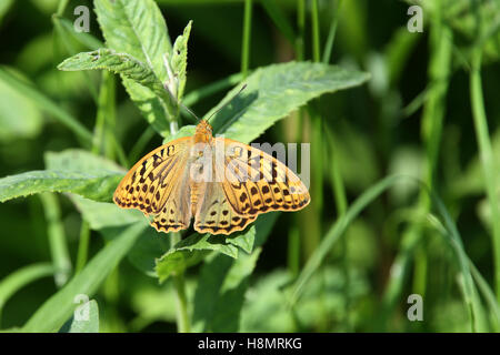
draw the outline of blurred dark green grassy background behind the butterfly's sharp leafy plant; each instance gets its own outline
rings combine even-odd
[[[241,70],[244,1],[157,2],[172,39],[193,20],[187,93]],[[423,8],[421,33],[407,29],[412,1],[252,1],[250,69],[322,60],[331,44],[329,63],[369,72],[371,80],[322,95],[258,139],[294,142],[301,136],[302,142],[311,142],[313,203],[300,213],[278,216],[249,280],[239,331],[498,331],[500,3],[417,2]],[[62,60],[88,49],[58,32],[54,23],[59,18],[71,23],[72,10],[79,4],[93,6],[69,1],[57,18],[59,4],[58,0],[0,1],[0,64],[92,130],[101,75],[57,70]],[[93,12],[90,30],[102,40]],[[314,43],[319,44],[316,49]],[[192,109],[204,114],[227,89],[203,98]],[[144,140],[146,121],[118,79],[116,90],[114,133],[133,162],[162,139],[151,133],[139,151],[134,149],[141,136]],[[321,120],[320,130],[314,128],[314,115]],[[79,140],[51,110],[0,78],[0,176],[42,170],[44,152],[78,146]],[[446,205],[462,251],[474,265],[482,312],[476,314],[481,320],[478,326],[471,326],[463,295],[467,275],[460,254],[442,232],[447,221],[438,216],[427,190],[410,179],[391,184],[349,221],[346,235],[324,251],[321,267],[314,268],[294,308],[279,306],[282,290],[323,247],[321,241],[339,216],[391,174],[419,179]],[[57,209],[50,211],[56,215],[47,213],[47,204],[53,203]],[[2,203],[0,225],[0,280],[26,265],[51,262],[50,229],[63,233],[70,258],[77,257],[81,216],[62,194]],[[99,233],[91,232],[89,257],[103,245]],[[198,266],[187,272],[188,293],[196,287],[199,273]],[[43,277],[6,304],[0,302],[0,328],[21,326],[56,291],[53,277]],[[423,297],[422,322],[407,317],[407,298],[413,293]],[[127,261],[96,300],[101,331],[177,329],[171,282],[160,286],[157,278]]]

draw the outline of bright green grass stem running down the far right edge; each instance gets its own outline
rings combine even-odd
[[[497,194],[497,169],[488,132],[488,122],[484,112],[484,102],[481,83],[481,50],[474,51],[472,57],[472,71],[470,73],[470,100],[476,135],[479,143],[482,172],[484,176],[486,192],[491,209],[493,263],[494,263],[494,290],[497,301],[500,302],[500,220]]]

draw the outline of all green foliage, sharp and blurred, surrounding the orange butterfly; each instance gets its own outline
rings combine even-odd
[[[494,0],[0,1],[0,329],[499,331],[499,24]],[[112,204],[193,132],[166,83],[200,116],[246,83],[214,131],[310,142],[311,204],[229,237]]]

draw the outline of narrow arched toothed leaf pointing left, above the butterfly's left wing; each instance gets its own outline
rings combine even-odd
[[[150,67],[130,54],[117,53],[111,49],[101,48],[91,52],[78,53],[66,59],[58,65],[58,69],[64,71],[109,70],[150,89],[159,98],[163,99],[164,102],[171,100],[168,92],[164,90],[163,84],[156,77]]]

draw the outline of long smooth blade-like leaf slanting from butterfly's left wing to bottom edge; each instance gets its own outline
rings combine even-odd
[[[146,225],[133,224],[117,240],[108,243],[63,288],[37,310],[23,326],[23,332],[57,332],[71,316],[74,297],[91,297],[109,273],[127,255]]]

